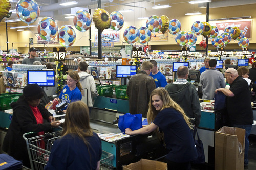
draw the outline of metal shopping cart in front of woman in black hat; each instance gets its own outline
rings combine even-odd
[[[29,160],[32,170],[43,170],[49,160],[51,148],[55,140],[60,137],[60,131],[46,133],[36,136],[37,132],[29,132],[23,135],[26,140],[29,153]],[[42,142],[45,143],[45,149],[42,149]],[[100,170],[115,169],[113,167],[114,155],[102,150],[100,159]]]

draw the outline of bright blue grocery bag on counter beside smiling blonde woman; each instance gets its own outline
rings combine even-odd
[[[142,128],[142,114],[126,113],[123,116],[119,116],[118,127],[121,132],[125,132],[126,128],[130,128],[132,130]]]

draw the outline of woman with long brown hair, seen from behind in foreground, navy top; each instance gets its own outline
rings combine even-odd
[[[89,110],[82,101],[68,106],[61,138],[51,150],[47,169],[99,169],[101,141],[90,127]]]

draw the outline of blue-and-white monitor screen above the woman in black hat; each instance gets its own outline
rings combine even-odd
[[[40,70],[28,71],[28,84],[38,84],[39,86],[55,86],[55,71]]]

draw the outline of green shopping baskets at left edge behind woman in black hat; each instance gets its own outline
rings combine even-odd
[[[0,94],[0,110],[4,111],[7,109],[11,109],[10,104],[12,102],[16,102],[21,96],[22,93],[6,93]]]

